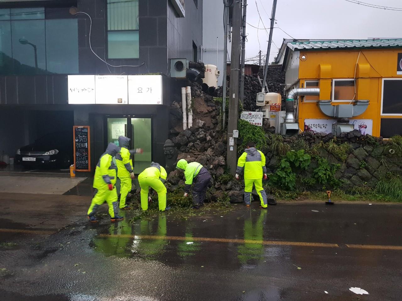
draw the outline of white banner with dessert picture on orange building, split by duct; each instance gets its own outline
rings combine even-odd
[[[314,133],[332,133],[332,125],[336,119],[305,119],[304,130]],[[362,135],[373,134],[372,119],[350,119],[349,124],[353,124],[355,130],[359,130]]]

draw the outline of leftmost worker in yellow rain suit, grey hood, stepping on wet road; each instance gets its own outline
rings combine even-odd
[[[96,210],[103,203],[109,206],[109,215],[112,222],[123,220],[119,216],[119,203],[117,201],[116,180],[117,172],[116,165],[113,163],[113,157],[120,152],[120,148],[116,144],[109,143],[105,153],[100,156],[99,162],[96,165],[93,187],[96,189],[91,205],[88,209],[88,219],[91,222],[98,222],[95,217]]]

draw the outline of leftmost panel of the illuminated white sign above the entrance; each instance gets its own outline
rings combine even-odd
[[[68,103],[95,104],[94,75],[68,75]]]

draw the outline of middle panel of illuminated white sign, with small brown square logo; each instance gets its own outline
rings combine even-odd
[[[128,104],[127,75],[95,75],[96,104]]]

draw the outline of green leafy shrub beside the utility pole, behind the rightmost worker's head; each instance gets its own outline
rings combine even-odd
[[[242,144],[238,146],[238,153],[242,153],[246,144],[252,141],[256,144],[256,148],[259,150],[265,150],[267,148],[267,140],[265,138],[265,132],[261,126],[255,126],[250,124],[246,120],[240,119],[238,121],[239,137],[242,138]]]

